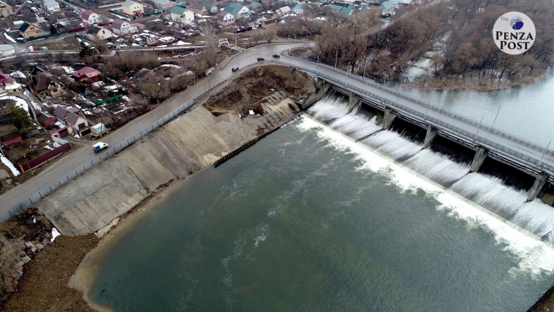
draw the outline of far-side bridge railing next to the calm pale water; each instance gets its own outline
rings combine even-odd
[[[303,47],[297,47],[295,49],[303,49]],[[292,50],[294,50],[294,49],[292,49]],[[289,51],[289,50],[287,50],[287,51]],[[283,53],[285,53],[285,51],[283,51]],[[316,60],[312,60],[310,58],[305,58],[305,57],[298,56],[298,55],[292,55],[290,53],[289,53],[289,57],[296,58],[296,59],[299,59],[299,60],[307,60],[309,62],[314,62],[314,63],[318,64],[318,62]],[[461,121],[464,121],[466,123],[476,125],[479,128],[488,129],[488,130],[496,133],[497,135],[507,137],[508,139],[511,139],[512,141],[516,141],[520,144],[525,144],[526,146],[530,146],[535,150],[539,150],[540,152],[545,152],[545,153],[549,153],[549,154],[554,155],[554,148],[550,149],[550,148],[548,148],[548,146],[545,146],[543,144],[539,144],[537,142],[532,142],[529,139],[524,139],[524,138],[519,137],[518,135],[515,135],[513,133],[510,133],[510,132],[507,132],[507,131],[504,131],[504,130],[500,130],[499,128],[494,128],[494,127],[492,127],[490,125],[487,125],[487,124],[483,124],[483,123],[481,123],[481,121],[477,121],[476,119],[474,119],[470,116],[465,116],[464,114],[461,114],[459,112],[454,112],[452,110],[446,110],[444,107],[442,107],[442,106],[440,106],[436,103],[433,103],[430,100],[425,100],[425,99],[422,99],[422,98],[418,98],[418,96],[414,96],[413,94],[398,91],[397,89],[393,89],[391,87],[387,87],[386,85],[376,83],[375,81],[370,80],[369,78],[364,78],[364,77],[361,77],[359,75],[355,75],[353,73],[348,73],[348,71],[346,71],[344,69],[333,67],[330,64],[325,64],[325,63],[319,62],[318,66],[325,67],[327,69],[331,69],[333,71],[340,72],[343,75],[346,75],[350,78],[353,78],[355,80],[359,80],[363,83],[366,83],[367,85],[372,85],[373,87],[376,87],[377,89],[382,89],[383,91],[386,91],[390,94],[394,94],[395,96],[400,96],[401,98],[406,98],[406,100],[413,101],[413,102],[418,103],[420,105],[423,105],[423,106],[425,106],[425,107],[427,107],[431,110],[436,110],[437,112],[442,112],[443,114],[447,114],[449,116],[452,116],[452,117],[454,117],[456,119],[459,119]],[[319,75],[321,76],[321,74],[319,74]],[[343,84],[343,83],[340,82],[339,84]]]

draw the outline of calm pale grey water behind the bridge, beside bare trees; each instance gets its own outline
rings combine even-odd
[[[542,146],[554,137],[553,71],[530,85],[497,91],[402,89]]]

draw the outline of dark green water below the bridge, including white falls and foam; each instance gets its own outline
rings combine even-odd
[[[554,208],[347,103],[328,96],[315,119],[179,182],[90,297],[116,311],[524,311],[554,283],[537,237]]]

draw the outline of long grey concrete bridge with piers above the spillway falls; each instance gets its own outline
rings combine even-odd
[[[426,129],[422,148],[427,148],[434,137],[440,135],[475,150],[471,172],[478,171],[486,157],[492,157],[535,176],[535,183],[528,193],[529,201],[537,197],[548,180],[554,183],[554,150],[549,149],[550,144],[535,144],[528,139],[483,125],[470,117],[445,110],[430,101],[385,87],[328,64],[318,64],[294,55],[283,55],[276,62],[301,69],[320,81],[318,94],[309,100],[312,103],[321,99],[326,90],[332,87],[349,96],[349,112],[358,103],[384,112],[384,130],[396,118]]]

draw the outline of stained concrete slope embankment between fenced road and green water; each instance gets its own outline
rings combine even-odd
[[[262,103],[263,116],[213,116],[199,106],[36,203],[65,235],[96,232],[150,193],[272,130],[296,112],[289,99]]]

